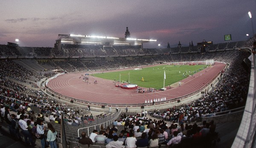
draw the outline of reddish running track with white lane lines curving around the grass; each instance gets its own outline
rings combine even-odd
[[[102,78],[89,76],[89,83],[79,78],[82,73],[68,73],[60,75],[52,79],[48,83],[48,87],[63,96],[69,96],[89,102],[99,102],[108,104],[141,104],[146,100],[154,98],[166,97],[166,100],[187,96],[206,87],[207,84],[216,78],[223,70],[225,64],[215,63],[215,65],[207,67],[199,73],[194,74],[195,77],[183,79],[180,87],[169,89],[166,91],[137,93],[136,90],[126,90],[117,88],[114,82]],[[111,72],[111,71],[109,71]],[[202,73],[202,75],[201,75]],[[84,73],[83,73],[84,74]],[[98,84],[94,84],[97,80]],[[147,88],[145,88],[146,90]]]

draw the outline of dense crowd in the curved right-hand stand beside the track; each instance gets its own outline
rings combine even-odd
[[[250,75],[241,63],[249,54],[240,53],[236,53],[234,61],[222,74],[222,78],[211,93],[205,90],[201,99],[168,110],[154,110],[150,114],[156,118],[175,122],[178,122],[182,115],[185,121],[190,122],[200,117],[215,116],[215,113],[244,106]]]

